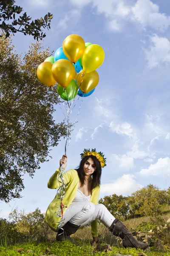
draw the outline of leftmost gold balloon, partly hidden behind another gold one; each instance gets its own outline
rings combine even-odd
[[[42,82],[49,87],[54,86],[56,80],[52,75],[52,68],[53,64],[51,62],[45,61],[42,62],[37,68],[37,77]]]

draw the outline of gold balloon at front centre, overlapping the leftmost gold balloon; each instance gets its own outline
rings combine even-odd
[[[62,87],[67,87],[74,78],[75,68],[70,61],[60,59],[54,62],[52,66],[52,74],[58,84],[60,84]]]

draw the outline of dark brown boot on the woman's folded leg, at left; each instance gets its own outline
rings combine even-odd
[[[73,244],[79,244],[71,239],[71,235],[76,233],[79,229],[80,225],[74,225],[70,221],[68,221],[62,228],[59,229],[56,240],[57,241],[71,241]]]

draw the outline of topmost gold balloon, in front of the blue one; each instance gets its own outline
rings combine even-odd
[[[83,55],[85,41],[79,35],[68,35],[62,43],[62,49],[65,56],[75,63]]]

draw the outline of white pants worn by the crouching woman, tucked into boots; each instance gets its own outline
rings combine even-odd
[[[103,204],[80,201],[72,203],[65,210],[62,219],[63,223],[59,225],[59,228],[63,227],[68,221],[72,224],[84,227],[96,219],[99,219],[106,227],[111,227],[115,218]],[[56,231],[58,231],[59,228],[57,228]]]

